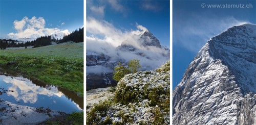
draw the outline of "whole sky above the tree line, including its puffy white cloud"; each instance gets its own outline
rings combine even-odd
[[[16,27],[14,26],[15,20]],[[82,0],[0,0],[0,38],[9,38],[10,33],[13,33],[12,37],[16,38],[41,34],[51,35],[51,33],[62,30],[72,32],[82,26]],[[33,28],[36,31],[35,34],[29,32]]]

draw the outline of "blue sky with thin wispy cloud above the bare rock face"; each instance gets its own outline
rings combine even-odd
[[[211,4],[252,8],[208,8]],[[246,22],[256,24],[256,1],[173,1],[173,89],[208,39]]]

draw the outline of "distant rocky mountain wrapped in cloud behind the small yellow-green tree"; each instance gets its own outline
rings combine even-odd
[[[112,79],[113,69],[118,62],[128,62],[126,57],[158,61],[158,58],[152,57],[151,53],[153,52],[148,53],[152,48],[158,49],[160,55],[158,58],[166,58],[164,62],[169,60],[169,49],[162,47],[159,40],[149,31],[140,35],[136,45],[129,40],[123,41],[120,46],[115,48],[114,53],[116,55],[109,55],[109,52],[113,50],[104,47],[102,47],[102,53],[87,50],[87,90],[116,86],[117,82]],[[93,72],[89,70],[93,70]],[[151,70],[151,67],[150,65],[142,65],[142,70]]]

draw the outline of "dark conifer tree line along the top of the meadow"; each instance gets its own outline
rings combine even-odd
[[[0,39],[0,49],[6,49],[7,47],[25,47],[27,46],[33,46],[35,47],[41,47],[46,45],[51,45],[52,42],[56,43],[62,43],[62,42],[68,42],[68,41],[74,41],[74,42],[83,42],[83,28],[79,30],[75,30],[71,34],[64,36],[62,39],[56,39],[52,38],[51,36],[42,36],[39,37],[33,41],[27,41],[27,42],[18,42],[17,40],[11,40],[11,39]]]

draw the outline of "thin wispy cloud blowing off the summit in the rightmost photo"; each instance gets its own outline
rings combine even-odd
[[[181,45],[193,53],[197,53],[207,40],[228,28],[248,23],[243,20],[237,20],[234,17],[205,18],[201,15],[193,15],[193,18],[191,17],[189,21],[186,20],[179,19],[179,22],[174,21],[173,43]]]

